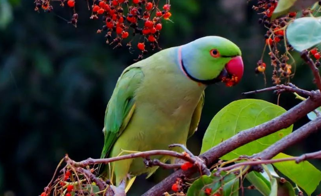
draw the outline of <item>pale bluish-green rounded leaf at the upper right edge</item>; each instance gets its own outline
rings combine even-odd
[[[291,22],[286,30],[289,43],[303,51],[321,42],[321,17],[303,17]]]

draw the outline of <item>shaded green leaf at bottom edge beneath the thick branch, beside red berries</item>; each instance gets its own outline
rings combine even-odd
[[[213,171],[215,173],[216,171]],[[239,188],[239,180],[234,174],[228,174],[221,172],[220,176],[201,176],[195,180],[189,188],[186,196],[206,196],[205,189],[210,188],[211,194],[219,191],[219,188],[223,186],[223,195],[226,196],[237,196]],[[222,180],[223,178],[223,180]]]

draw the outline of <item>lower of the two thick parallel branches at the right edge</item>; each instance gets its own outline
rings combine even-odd
[[[255,155],[255,157],[259,157],[261,159],[271,159],[279,152],[284,151],[286,148],[300,142],[302,139],[309,136],[311,133],[314,133],[318,129],[321,129],[321,118],[317,118],[304,126],[300,127],[296,131],[292,132],[289,135],[286,135],[282,139],[280,139],[275,144],[271,145],[269,148],[266,148],[261,153]]]

